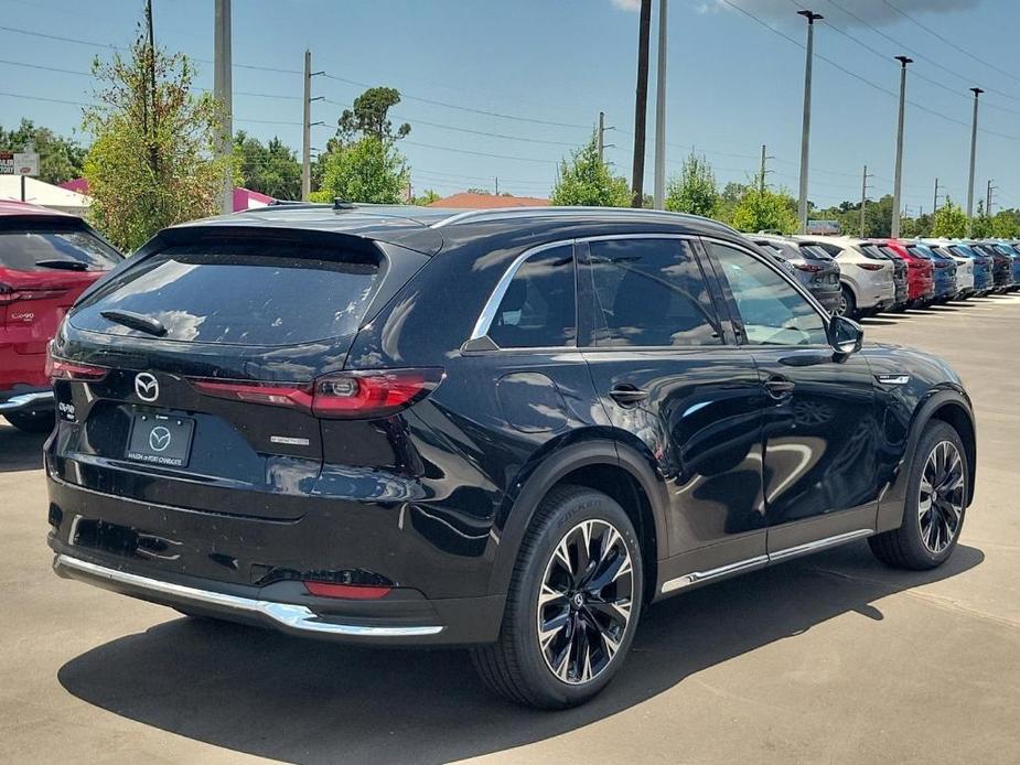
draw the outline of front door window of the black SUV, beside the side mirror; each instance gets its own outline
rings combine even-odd
[[[825,322],[809,302],[763,262],[734,247],[709,243],[751,345],[825,345]]]

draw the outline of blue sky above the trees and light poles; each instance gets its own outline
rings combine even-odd
[[[365,86],[396,87],[395,122],[415,193],[466,187],[547,196],[559,160],[605,112],[606,159],[630,177],[638,0],[234,0],[235,129],[300,150],[304,50],[312,146]],[[973,96],[981,96],[976,197],[1020,207],[1016,0],[809,0],[815,28],[809,198],[827,206],[891,193],[899,63],[908,72],[903,205],[931,212],[934,182],[965,203]],[[196,60],[212,87],[213,0],[153,0],[157,44]],[[654,7],[657,9],[658,0]],[[794,193],[806,24],[799,0],[669,0],[666,169],[694,148],[720,183],[747,181],[767,147],[769,182]],[[0,0],[0,125],[21,117],[80,133],[95,56],[137,33],[143,0]],[[20,31],[14,31],[20,30]],[[24,34],[32,32],[34,34]],[[50,36],[39,36],[50,35]],[[53,39],[63,37],[64,40]],[[657,11],[648,153],[652,190]],[[73,42],[78,41],[78,42]],[[40,68],[43,67],[43,68]],[[262,67],[262,68],[250,68]],[[25,98],[30,96],[31,98]],[[3,149],[3,147],[0,147]],[[942,202],[942,198],[940,198]]]

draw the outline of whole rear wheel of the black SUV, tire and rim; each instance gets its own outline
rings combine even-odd
[[[588,572],[601,570],[605,581],[615,570],[601,589],[589,584],[587,592],[583,577],[570,575],[572,569],[580,573],[584,568],[579,565],[579,554],[586,528],[588,549],[595,551],[591,558],[609,542],[603,553],[608,565],[595,560]],[[605,688],[626,658],[643,586],[641,547],[623,508],[601,492],[557,487],[543,499],[522,542],[500,637],[493,645],[473,649],[472,662],[484,683],[511,701],[540,709],[581,704]],[[539,606],[539,596],[554,592],[562,594]],[[546,633],[546,643],[539,617],[562,625]],[[597,629],[599,625],[604,627]]]

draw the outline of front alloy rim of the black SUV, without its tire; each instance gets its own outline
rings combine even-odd
[[[965,488],[959,451],[952,441],[940,441],[924,463],[917,497],[921,540],[930,552],[942,552],[956,537]]]

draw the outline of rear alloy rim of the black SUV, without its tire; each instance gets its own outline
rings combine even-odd
[[[552,552],[538,593],[538,644],[549,670],[581,685],[613,660],[634,603],[634,570],[620,531],[604,520],[570,529]]]

